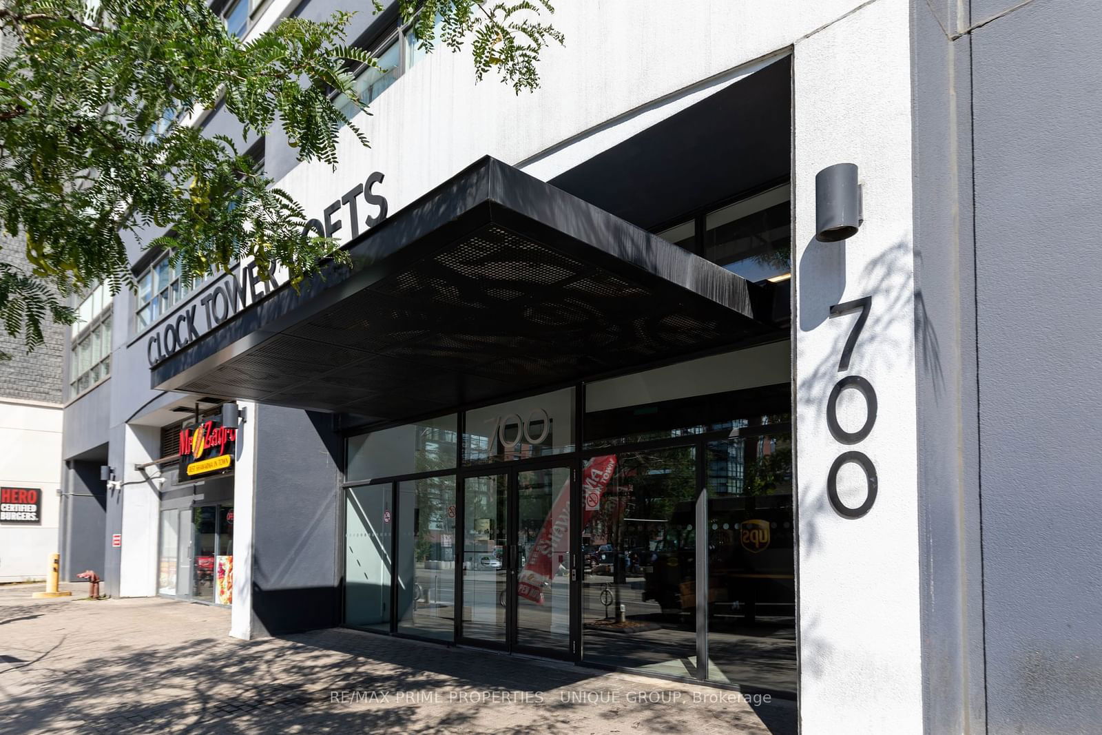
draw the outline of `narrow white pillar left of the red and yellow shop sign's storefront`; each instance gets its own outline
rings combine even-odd
[[[156,426],[126,425],[126,465],[116,467],[122,480],[122,548],[119,595],[152,597],[156,594],[158,537],[160,529],[160,469],[144,472],[134,465],[158,458],[161,430]],[[121,472],[120,472],[121,469]]]

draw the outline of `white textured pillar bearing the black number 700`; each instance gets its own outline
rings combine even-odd
[[[922,729],[908,24],[906,0],[878,0],[793,55],[800,710],[804,732],[817,734]],[[865,223],[850,240],[823,244],[815,173],[841,162],[860,167]],[[840,371],[857,315],[831,318],[830,306],[868,295],[868,322]],[[827,426],[843,376],[866,378],[879,404],[855,444]],[[852,432],[865,403],[853,390],[842,396],[839,422]],[[879,479],[856,519],[827,496],[846,451],[866,454]],[[838,485],[845,505],[865,499],[856,465],[843,465]]]

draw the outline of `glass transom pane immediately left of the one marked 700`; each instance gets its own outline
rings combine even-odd
[[[454,469],[455,422],[450,413],[349,437],[348,480]]]

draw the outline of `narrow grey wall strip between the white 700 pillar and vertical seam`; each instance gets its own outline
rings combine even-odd
[[[923,716],[984,727],[983,597],[971,224],[971,36],[954,8],[911,3],[915,344]]]

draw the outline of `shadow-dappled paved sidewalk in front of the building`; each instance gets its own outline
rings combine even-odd
[[[0,595],[0,732],[795,733],[790,702],[229,610]],[[79,593],[77,593],[79,594]]]

